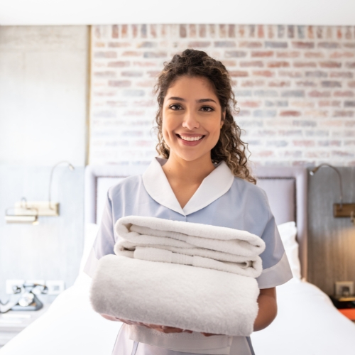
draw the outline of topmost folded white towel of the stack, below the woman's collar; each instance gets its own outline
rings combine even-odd
[[[116,222],[115,230],[122,239],[146,246],[197,247],[251,257],[265,249],[264,241],[249,231],[155,217],[126,216]]]

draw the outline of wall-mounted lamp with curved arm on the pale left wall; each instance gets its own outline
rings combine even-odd
[[[68,161],[63,160],[55,164],[50,170],[48,201],[32,201],[27,202],[25,198],[21,202],[16,202],[15,207],[10,207],[5,211],[6,223],[32,223],[38,224],[38,216],[59,216],[59,203],[51,202],[50,195],[52,190],[53,172],[58,165],[66,163],[70,170],[74,170],[74,166]],[[14,209],[14,214],[8,214],[9,209]]]

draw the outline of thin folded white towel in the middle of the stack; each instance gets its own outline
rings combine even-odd
[[[222,252],[214,252],[207,249],[182,249],[174,248],[174,251],[166,250],[165,246],[134,246],[127,241],[118,242],[115,246],[116,255],[137,258],[146,261],[160,261],[163,263],[179,263],[184,265],[197,266],[200,268],[212,268],[214,270],[237,273],[243,276],[257,278],[262,272],[260,256],[246,257],[229,254],[233,261],[224,261]],[[197,251],[197,253],[194,253]],[[207,253],[204,253],[207,251]],[[222,261],[216,257],[207,257],[208,253],[222,254]],[[204,256],[199,256],[202,254]]]

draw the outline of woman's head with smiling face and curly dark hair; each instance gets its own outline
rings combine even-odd
[[[238,109],[229,72],[222,62],[201,50],[187,49],[165,64],[155,92],[159,105],[155,116],[159,140],[156,148],[163,158],[175,152],[173,145],[179,140],[183,143],[182,134],[187,138],[185,142],[197,137],[204,144],[196,144],[200,146],[198,151],[189,151],[193,159],[202,151],[208,152],[212,163],[224,160],[235,176],[255,183],[247,167],[247,144],[241,141],[241,129],[232,116]],[[178,151],[182,153],[182,149]]]

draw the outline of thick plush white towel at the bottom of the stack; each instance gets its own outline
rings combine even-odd
[[[258,312],[254,278],[208,268],[107,255],[99,260],[91,301],[127,320],[248,336]]]

